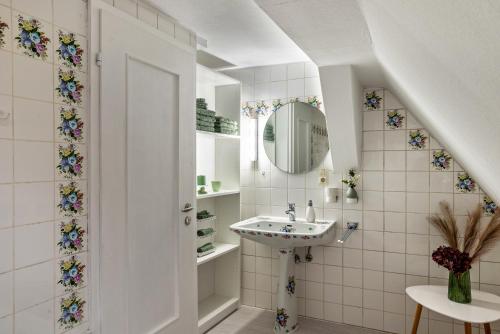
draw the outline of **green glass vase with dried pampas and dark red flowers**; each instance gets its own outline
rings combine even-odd
[[[459,233],[455,217],[446,202],[439,203],[441,215],[433,215],[429,222],[441,233],[447,246],[440,246],[432,253],[432,260],[449,270],[448,299],[462,304],[471,302],[470,269],[500,240],[500,210],[491,217],[481,230],[481,206],[469,212],[463,243],[459,244]]]

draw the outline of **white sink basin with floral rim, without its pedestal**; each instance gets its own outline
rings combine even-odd
[[[291,222],[280,217],[254,217],[230,226],[242,238],[255,240],[275,248],[295,248],[330,243],[335,238],[335,221],[303,219]]]

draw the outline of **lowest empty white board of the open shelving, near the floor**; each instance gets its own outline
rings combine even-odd
[[[239,299],[212,295],[198,303],[198,332],[205,333],[238,308]]]

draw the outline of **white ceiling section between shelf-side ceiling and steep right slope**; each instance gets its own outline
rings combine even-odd
[[[384,86],[355,0],[255,0],[318,66],[353,65],[364,86]]]

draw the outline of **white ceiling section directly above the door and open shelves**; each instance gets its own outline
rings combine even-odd
[[[238,67],[309,61],[251,0],[149,0],[208,41],[205,50]]]

